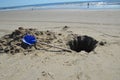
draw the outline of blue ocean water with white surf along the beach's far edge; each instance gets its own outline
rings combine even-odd
[[[1,7],[0,10],[19,9],[120,9],[120,0],[84,0],[75,2],[57,2],[22,6]]]

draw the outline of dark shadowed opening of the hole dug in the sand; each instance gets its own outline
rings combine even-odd
[[[76,52],[86,51],[91,52],[96,48],[96,44],[98,43],[97,40],[93,39],[89,36],[77,36],[73,40],[69,41],[68,44],[71,50]]]

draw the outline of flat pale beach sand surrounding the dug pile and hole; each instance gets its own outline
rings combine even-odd
[[[68,26],[68,29],[64,29]],[[120,10],[0,12],[0,36],[18,27],[88,35],[106,41],[95,52],[37,50],[0,54],[0,80],[120,80]]]

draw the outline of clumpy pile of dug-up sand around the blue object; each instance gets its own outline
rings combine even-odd
[[[36,46],[25,46],[22,42],[22,38],[26,35],[34,35],[37,39]],[[45,42],[52,44],[53,42],[62,43],[61,39],[58,39],[62,34],[56,34],[50,31],[38,31],[36,29],[24,29],[19,27],[17,30],[13,31],[11,34],[4,35],[0,38],[0,52],[3,53],[20,53],[24,51],[33,51],[36,48],[45,48],[47,46],[39,44],[39,42]]]

